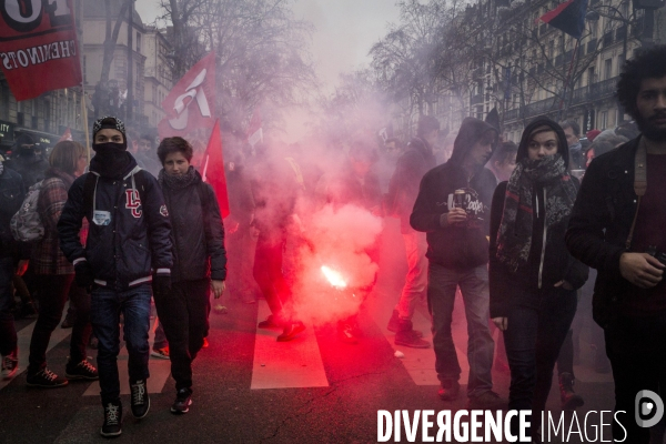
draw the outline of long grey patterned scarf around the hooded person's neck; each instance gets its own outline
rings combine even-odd
[[[538,160],[524,158],[518,162],[506,185],[504,211],[497,231],[497,259],[513,272],[529,259],[535,184],[546,190],[546,230],[567,218],[576,200],[576,185],[559,153]]]

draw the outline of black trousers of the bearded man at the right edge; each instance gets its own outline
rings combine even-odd
[[[615,411],[626,428],[625,443],[648,443],[649,428],[635,421],[638,392],[649,390],[666,400],[666,313],[649,317],[619,317],[605,331],[606,353],[615,380]],[[623,440],[625,432],[613,422],[613,437]]]

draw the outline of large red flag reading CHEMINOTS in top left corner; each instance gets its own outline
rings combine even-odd
[[[0,1],[0,64],[17,100],[81,83],[72,3]]]

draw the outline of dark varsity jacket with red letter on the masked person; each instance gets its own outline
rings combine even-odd
[[[67,259],[74,265],[88,261],[95,283],[117,290],[150,282],[152,273],[170,274],[172,266],[171,223],[160,184],[128,157],[128,165],[114,178],[100,175],[91,162],[91,172],[69,189],[58,221]],[[95,181],[88,209],[84,185],[90,174]],[[83,218],[90,223],[85,246],[79,240]]]

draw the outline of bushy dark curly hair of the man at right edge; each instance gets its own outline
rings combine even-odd
[[[625,62],[617,82],[617,100],[627,114],[638,120],[636,98],[645,79],[666,77],[666,46],[659,44],[647,50],[636,51],[636,56]]]

